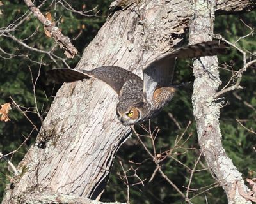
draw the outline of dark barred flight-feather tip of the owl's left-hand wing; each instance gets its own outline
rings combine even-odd
[[[74,69],[51,69],[47,71],[47,77],[47,79],[55,82],[56,84],[91,78],[89,75]]]

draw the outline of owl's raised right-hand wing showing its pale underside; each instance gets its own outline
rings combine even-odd
[[[157,87],[170,86],[172,84],[176,57],[204,57],[225,52],[225,45],[220,44],[218,41],[205,41],[195,45],[187,45],[156,57],[143,68],[143,92],[147,95],[148,101],[152,100]]]

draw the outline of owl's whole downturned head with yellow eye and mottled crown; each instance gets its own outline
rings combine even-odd
[[[126,101],[128,102],[128,101]],[[145,103],[118,103],[116,106],[116,115],[124,126],[131,126],[138,122],[141,122],[143,118],[143,109]]]

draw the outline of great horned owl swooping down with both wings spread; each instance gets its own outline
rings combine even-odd
[[[100,66],[93,70],[52,69],[49,74],[56,83],[96,78],[118,94],[116,115],[124,126],[140,124],[154,117],[172,98],[177,87],[172,85],[176,58],[211,56],[225,52],[218,41],[205,41],[159,55],[142,71],[143,79],[118,66]]]

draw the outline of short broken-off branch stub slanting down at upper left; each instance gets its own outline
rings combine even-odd
[[[60,48],[65,49],[65,55],[68,58],[73,58],[78,54],[77,49],[72,45],[70,39],[64,36],[60,29],[56,27],[51,20],[47,20],[44,15],[40,12],[40,10],[32,3],[30,0],[24,0],[24,3],[28,6],[29,10],[33,12],[36,18],[42,22],[45,29],[51,34],[52,38],[60,45]]]

